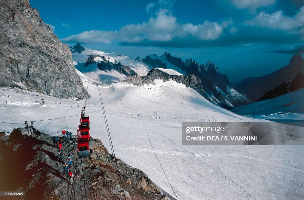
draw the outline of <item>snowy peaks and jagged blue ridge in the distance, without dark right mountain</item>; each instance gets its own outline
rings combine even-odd
[[[171,79],[191,87],[210,102],[223,108],[231,109],[250,103],[246,96],[232,88],[227,76],[219,73],[218,68],[211,61],[206,65],[200,65],[192,59],[186,59],[183,62],[181,58],[171,56],[167,52],[162,56],[152,54],[144,59],[137,57],[133,60],[120,53],[104,53],[91,49],[82,51],[85,48],[79,44],[70,48],[74,52],[73,59],[78,65],[80,63],[85,63],[84,66],[96,64],[105,72],[116,70],[128,76],[127,82],[135,85],[154,84],[155,79],[163,81]],[[154,68],[171,71],[154,70]],[[177,73],[181,76],[174,76]]]

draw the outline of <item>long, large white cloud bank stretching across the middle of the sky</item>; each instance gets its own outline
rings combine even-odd
[[[169,42],[173,39],[196,37],[198,40],[216,40],[223,33],[223,29],[232,24],[232,20],[222,23],[205,21],[202,24],[179,24],[168,9],[159,9],[148,22],[129,24],[118,31],[91,30],[69,36],[72,40],[83,43],[143,43]],[[68,39],[62,39],[67,41]]]

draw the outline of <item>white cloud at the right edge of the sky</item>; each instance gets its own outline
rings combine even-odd
[[[272,14],[260,12],[254,19],[246,21],[247,25],[256,25],[278,30],[289,30],[293,33],[304,33],[304,6],[293,17],[277,11]]]

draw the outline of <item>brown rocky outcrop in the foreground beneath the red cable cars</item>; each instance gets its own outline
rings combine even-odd
[[[15,130],[10,136],[0,137],[0,187],[5,191],[25,191],[23,199],[70,199],[71,186],[63,173],[67,154],[74,158],[75,197],[77,199],[126,199],[168,200],[148,176],[122,160],[109,154],[98,139],[90,141],[90,158],[76,161],[77,139],[63,139],[63,158],[53,145],[53,136],[37,132]],[[36,132],[36,134],[35,134]],[[23,135],[23,134],[26,135]],[[116,159],[124,191],[116,175]],[[75,168],[75,163],[78,167]],[[82,162],[82,165],[81,165]],[[83,170],[82,170],[83,169]],[[85,181],[85,182],[84,182]],[[85,196],[85,192],[87,196]]]

